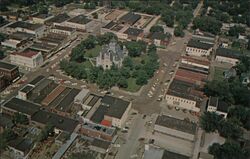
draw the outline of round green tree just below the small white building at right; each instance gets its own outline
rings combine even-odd
[[[208,133],[215,132],[222,119],[223,117],[214,112],[204,112],[204,114],[200,117],[201,128]]]

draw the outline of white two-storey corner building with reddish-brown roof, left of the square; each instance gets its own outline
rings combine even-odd
[[[43,64],[43,56],[41,52],[28,50],[10,54],[10,61],[13,64],[31,70]]]

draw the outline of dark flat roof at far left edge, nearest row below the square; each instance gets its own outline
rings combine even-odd
[[[3,107],[15,110],[17,112],[26,114],[26,115],[33,115],[37,112],[41,107],[38,104],[28,102],[19,98],[12,98],[7,103],[3,105]]]

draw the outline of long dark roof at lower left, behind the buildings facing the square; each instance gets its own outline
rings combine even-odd
[[[31,116],[31,120],[42,124],[51,123],[57,129],[67,132],[73,132],[79,123],[78,121],[71,118],[48,112],[46,110],[40,110],[36,112]]]

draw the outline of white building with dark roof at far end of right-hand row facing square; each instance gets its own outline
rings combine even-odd
[[[186,53],[192,56],[209,56],[213,49],[212,44],[190,40],[186,47]]]

